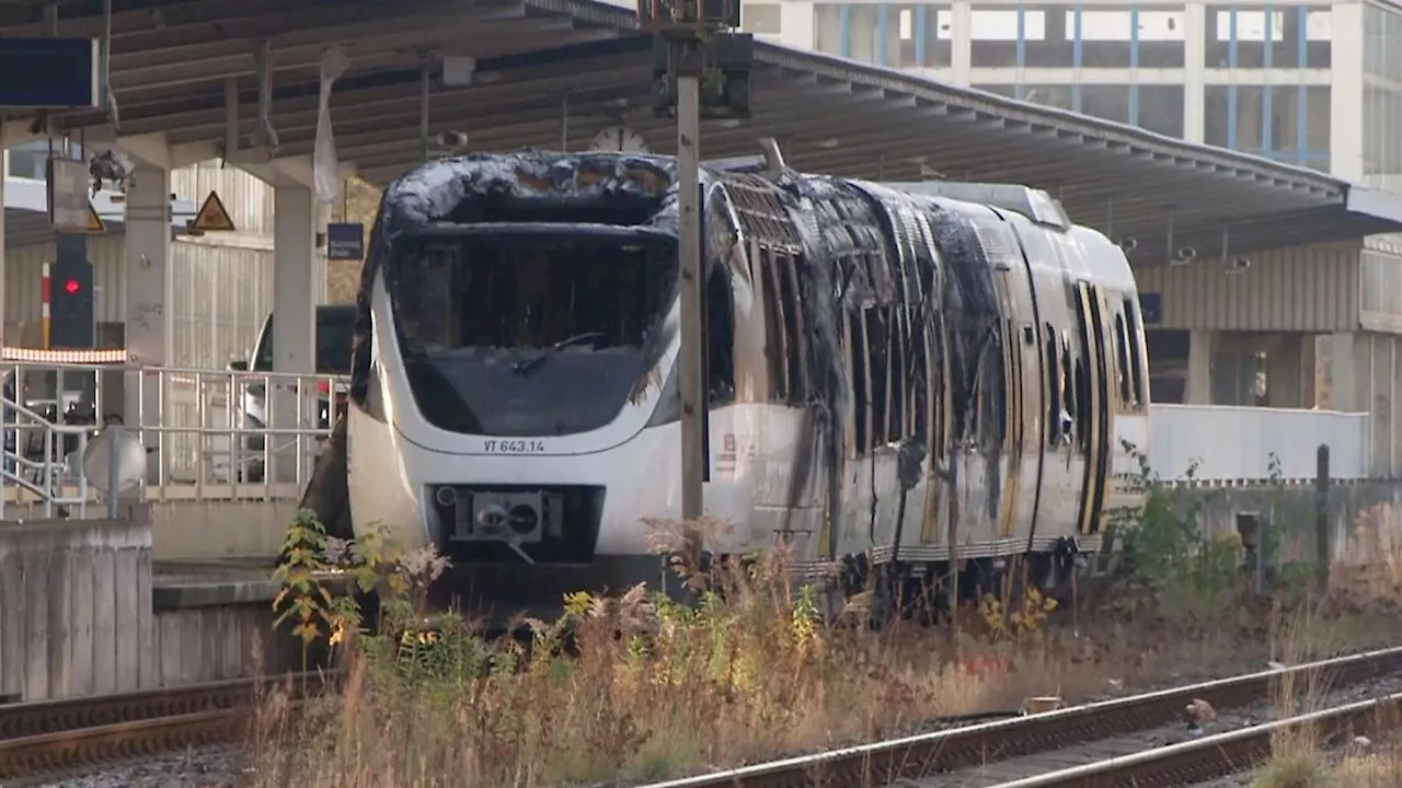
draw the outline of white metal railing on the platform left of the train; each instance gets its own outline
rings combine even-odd
[[[81,451],[114,422],[146,447],[146,499],[296,499],[346,387],[343,376],[118,365],[3,363],[0,380],[0,498],[46,512],[91,498]]]

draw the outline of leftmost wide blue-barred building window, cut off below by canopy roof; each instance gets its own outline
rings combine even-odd
[[[948,4],[819,3],[813,48],[879,66],[949,67],[953,13]]]

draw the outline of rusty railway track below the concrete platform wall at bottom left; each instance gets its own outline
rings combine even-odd
[[[278,686],[293,702],[334,686],[336,674],[308,672],[236,679],[146,693],[0,705],[0,781],[150,757],[241,736],[258,698]]]

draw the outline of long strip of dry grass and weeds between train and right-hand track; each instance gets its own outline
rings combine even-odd
[[[829,623],[809,590],[789,585],[784,564],[777,554],[718,569],[695,609],[641,589],[614,599],[575,595],[559,621],[530,621],[530,645],[485,641],[451,618],[433,642],[350,635],[338,646],[350,667],[345,693],[297,722],[285,700],[266,704],[255,782],[531,788],[660,780],[889,736],[939,715],[1016,709],[1029,695],[1077,700],[1375,645],[1396,627],[1380,627],[1377,596],[1364,593],[1395,599],[1402,587],[1398,576],[1340,576],[1323,599],[1242,603],[1237,616],[1190,627],[1123,616],[1110,604],[1117,590],[1103,587],[1095,604],[1050,621],[990,625],[974,613],[955,651],[944,630],[899,624],[873,632],[851,616]],[[433,566],[422,558],[402,565]],[[400,572],[391,593],[400,602],[386,604],[387,621],[397,616],[400,628],[412,630],[422,618],[407,600],[423,578]],[[1311,742],[1281,742],[1280,764],[1272,764],[1281,781],[1263,788],[1316,785],[1298,782],[1314,774],[1315,752]],[[1311,757],[1287,763],[1287,753]]]

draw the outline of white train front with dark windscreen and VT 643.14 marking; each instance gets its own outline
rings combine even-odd
[[[639,517],[677,509],[674,443],[649,429],[677,353],[674,231],[436,222],[393,255],[367,276],[348,415],[356,533],[432,544],[474,607],[656,580]]]

